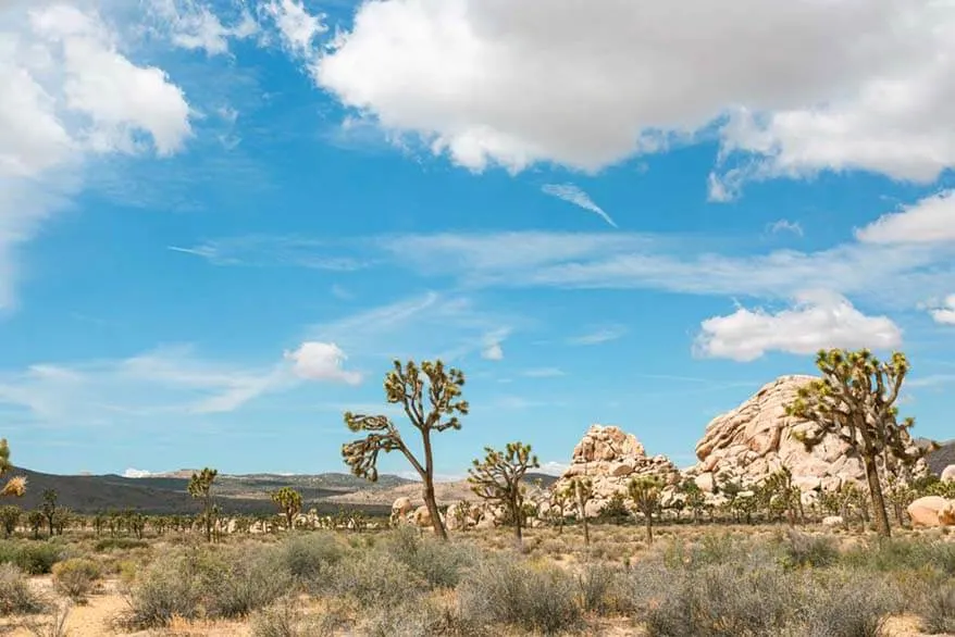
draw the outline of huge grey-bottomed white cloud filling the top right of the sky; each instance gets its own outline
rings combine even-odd
[[[955,165],[953,52],[955,7],[931,0],[392,0],[310,64],[472,170],[596,171],[727,122],[731,197],[819,170],[932,180]]]

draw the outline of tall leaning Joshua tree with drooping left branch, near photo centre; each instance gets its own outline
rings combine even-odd
[[[441,361],[423,361],[421,367],[414,361],[408,361],[404,367],[400,361],[395,361],[395,369],[385,376],[387,401],[400,404],[411,425],[421,435],[421,460],[411,452],[388,416],[345,413],[345,424],[349,430],[368,432],[364,438],[342,446],[342,457],[351,473],[375,482],[379,477],[379,453],[400,451],[421,476],[424,504],[431,515],[434,532],[442,539],[447,539],[448,533],[434,495],[434,451],[431,437],[435,433],[461,428],[458,414],[468,413],[468,402],[461,399],[463,386],[464,374],[454,367],[446,370]]]

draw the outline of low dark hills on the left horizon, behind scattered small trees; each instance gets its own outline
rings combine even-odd
[[[198,503],[188,495],[188,475],[191,472],[124,477],[120,475],[54,475],[26,469],[15,469],[11,475],[27,479],[27,492],[16,503],[24,509],[40,505],[42,492],[53,489],[58,503],[79,513],[133,509],[144,513],[172,514],[195,513]],[[219,504],[226,513],[273,512],[269,492],[290,486],[302,495],[305,508],[315,508],[322,513],[337,511],[339,503],[330,500],[357,491],[376,491],[396,488],[410,480],[383,475],[375,484],[349,474],[328,473],[318,475],[220,475],[215,483]],[[384,509],[373,503],[356,504],[368,513],[382,513]]]

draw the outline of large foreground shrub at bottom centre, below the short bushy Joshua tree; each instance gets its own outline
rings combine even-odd
[[[573,578],[557,567],[487,559],[458,588],[462,622],[496,622],[554,634],[576,627],[581,610]]]

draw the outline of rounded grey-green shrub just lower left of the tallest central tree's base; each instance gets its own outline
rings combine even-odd
[[[387,553],[367,551],[340,561],[332,571],[335,592],[362,607],[397,607],[421,592],[423,583]]]

